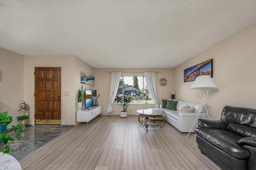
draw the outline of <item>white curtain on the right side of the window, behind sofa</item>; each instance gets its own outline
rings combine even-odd
[[[155,102],[155,108],[159,108],[158,100],[157,100],[157,93],[156,93],[156,73],[155,72],[144,72],[146,84],[148,86],[148,92]]]

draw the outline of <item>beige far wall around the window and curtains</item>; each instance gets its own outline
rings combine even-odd
[[[107,69],[107,68],[95,68],[94,76],[95,80],[95,90],[97,90],[97,94],[100,94],[98,98],[99,105],[102,106],[102,115],[106,115],[107,113],[107,104],[108,104],[108,96],[110,91],[110,79],[111,74],[107,74],[106,72],[123,72],[123,73],[142,73],[143,72],[160,72],[160,74],[156,74],[156,90],[158,95],[158,102],[162,104],[163,98],[171,98],[171,94],[174,91],[174,83],[173,83],[173,69]],[[166,78],[168,81],[166,86],[160,86],[158,81],[161,78]],[[128,111],[128,115],[137,115],[136,110],[138,109],[147,109],[154,108],[154,104],[129,104],[131,110]],[[120,111],[122,111],[122,106],[118,104],[112,104],[113,112],[110,115],[119,115]]]

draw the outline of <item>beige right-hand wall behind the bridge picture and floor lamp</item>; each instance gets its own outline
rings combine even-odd
[[[213,59],[213,80],[206,105],[211,119],[220,119],[224,106],[256,108],[256,23],[238,31],[174,68],[176,99],[202,102],[193,82],[183,82],[184,69]]]

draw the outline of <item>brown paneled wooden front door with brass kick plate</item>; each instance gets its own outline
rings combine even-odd
[[[61,67],[35,67],[35,123],[61,124]]]

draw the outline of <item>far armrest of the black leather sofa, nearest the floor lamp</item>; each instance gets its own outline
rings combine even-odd
[[[198,127],[227,130],[228,123],[221,121],[221,120],[198,119]]]

